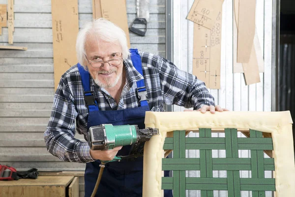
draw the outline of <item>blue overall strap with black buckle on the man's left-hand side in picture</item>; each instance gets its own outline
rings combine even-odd
[[[89,108],[89,112],[98,111],[99,109],[98,109],[98,105],[97,105],[97,102],[96,102],[95,97],[94,97],[94,92],[90,91],[90,74],[79,63],[78,63],[78,69],[79,69],[79,72],[80,72],[82,85],[83,85],[83,88],[84,88],[84,94],[83,95],[84,95],[84,99],[85,99],[85,102],[86,102],[86,106]]]

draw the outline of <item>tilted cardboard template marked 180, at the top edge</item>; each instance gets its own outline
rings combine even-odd
[[[222,9],[223,0],[195,0],[186,19],[211,29]]]

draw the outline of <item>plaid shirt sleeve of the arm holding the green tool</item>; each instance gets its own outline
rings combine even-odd
[[[87,142],[74,138],[78,113],[65,80],[61,79],[54,96],[53,108],[44,140],[47,150],[66,162],[93,162]]]

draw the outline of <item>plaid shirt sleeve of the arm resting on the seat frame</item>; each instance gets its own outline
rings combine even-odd
[[[199,109],[203,105],[215,105],[213,96],[203,81],[180,70],[169,60],[157,56],[162,94],[167,104],[177,104],[185,108]]]

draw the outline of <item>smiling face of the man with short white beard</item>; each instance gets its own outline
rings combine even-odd
[[[122,49],[117,43],[106,42],[97,39],[88,39],[86,42],[86,56],[89,61],[108,61],[121,58]],[[100,68],[93,68],[86,62],[89,73],[94,82],[105,89],[113,88],[117,85],[123,70],[123,61],[118,66],[110,66],[108,63]],[[94,66],[94,65],[93,65]]]

